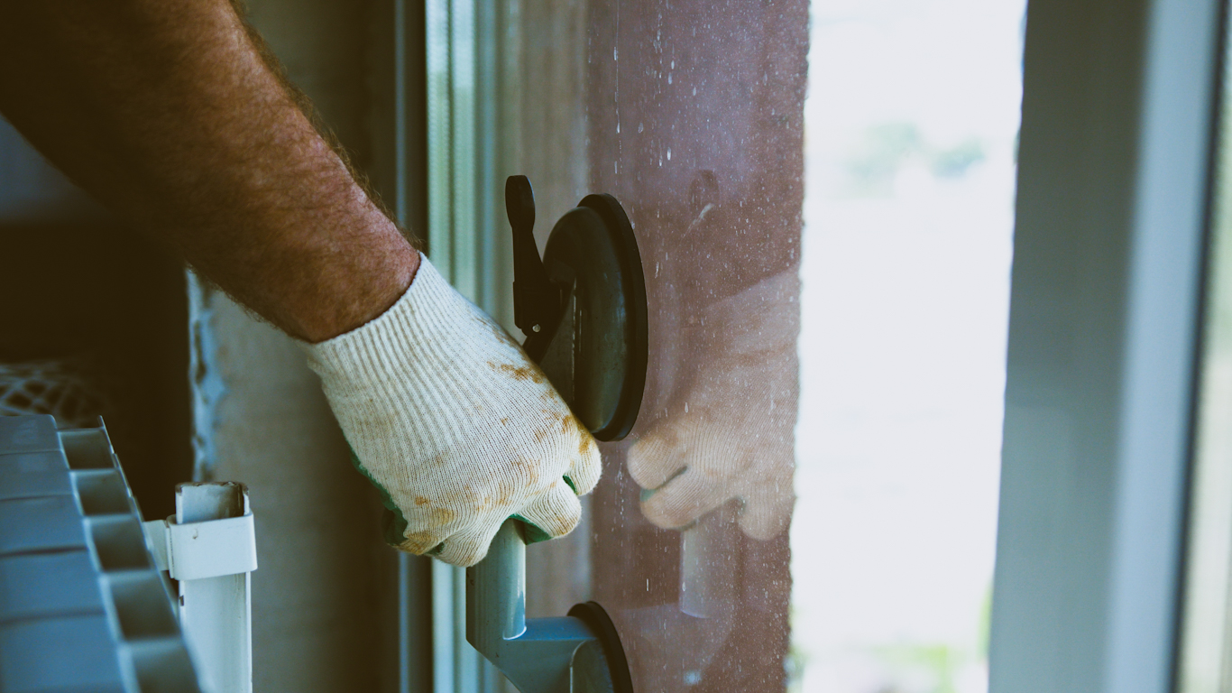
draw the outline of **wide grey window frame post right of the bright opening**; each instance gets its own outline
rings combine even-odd
[[[1221,2],[1027,11],[989,687],[1167,693]]]

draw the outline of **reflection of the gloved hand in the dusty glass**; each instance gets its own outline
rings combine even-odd
[[[697,372],[628,453],[647,519],[684,528],[729,499],[755,539],[787,525],[793,501],[800,281],[780,274],[705,311]]]

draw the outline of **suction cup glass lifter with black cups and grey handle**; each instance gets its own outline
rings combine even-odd
[[[588,195],[552,228],[541,260],[525,176],[505,181],[505,208],[526,354],[595,438],[620,440],[646,386],[646,279],[633,227],[615,197]],[[602,607],[588,602],[564,618],[526,618],[519,520],[506,520],[488,556],[467,568],[466,598],[467,640],[522,693],[633,693],[620,634]]]

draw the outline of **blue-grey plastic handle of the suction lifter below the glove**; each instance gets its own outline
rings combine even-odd
[[[599,639],[574,617],[526,618],[526,543],[505,520],[466,571],[466,639],[521,693],[610,693]]]

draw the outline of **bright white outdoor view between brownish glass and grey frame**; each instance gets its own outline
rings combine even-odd
[[[792,529],[809,693],[940,691],[887,663],[904,645],[966,652],[955,688],[987,687],[1023,11],[813,2]]]

